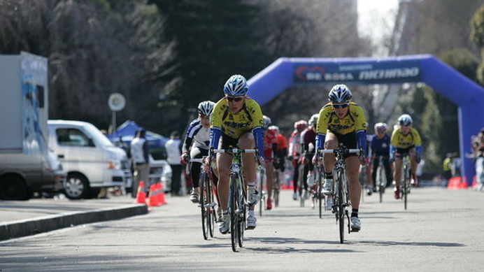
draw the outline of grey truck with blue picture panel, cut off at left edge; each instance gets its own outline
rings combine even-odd
[[[0,199],[58,192],[66,173],[48,148],[47,59],[0,55],[0,71]]]

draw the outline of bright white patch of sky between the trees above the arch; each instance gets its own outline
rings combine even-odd
[[[391,33],[399,0],[358,0],[358,29],[381,44],[384,34]]]

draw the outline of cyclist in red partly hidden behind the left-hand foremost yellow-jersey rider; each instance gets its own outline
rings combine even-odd
[[[264,129],[264,157],[266,158],[266,187],[267,187],[267,204],[266,209],[271,210],[272,208],[272,183],[274,180],[273,173],[274,167],[273,162],[269,159],[274,159],[277,152],[277,135],[276,131],[269,129],[271,125],[271,118],[266,115],[262,116],[264,124],[262,128]],[[262,188],[259,188],[262,189]]]

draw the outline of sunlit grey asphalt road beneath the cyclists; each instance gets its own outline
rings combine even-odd
[[[482,271],[482,192],[415,188],[408,210],[385,196],[365,196],[362,231],[341,244],[331,213],[285,191],[239,252],[229,235],[204,240],[188,196],[168,197],[148,215],[0,242],[0,271]]]

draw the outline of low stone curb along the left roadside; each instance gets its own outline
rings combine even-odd
[[[78,226],[80,224],[118,220],[134,215],[145,215],[147,213],[148,206],[145,204],[135,204],[121,206],[119,208],[105,208],[89,210],[87,212],[36,217],[32,220],[17,220],[0,225],[0,241],[41,234],[43,232]]]

